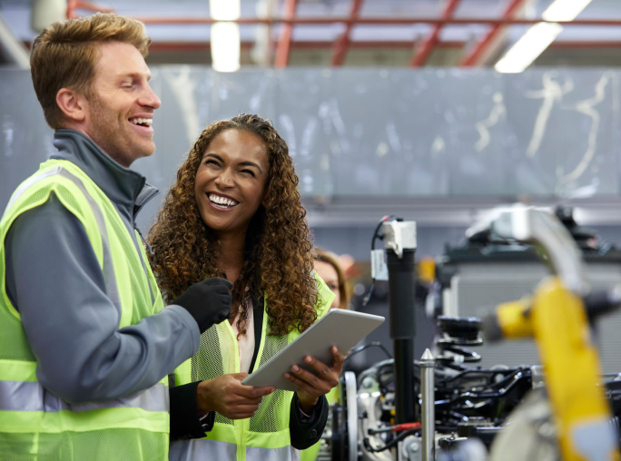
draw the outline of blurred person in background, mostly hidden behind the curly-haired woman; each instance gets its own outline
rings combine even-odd
[[[347,278],[345,270],[340,265],[339,257],[328,250],[315,247],[315,271],[320,278],[326,282],[328,288],[334,293],[334,299],[330,305],[330,309],[348,309],[350,305],[350,292],[347,286]],[[338,387],[332,388],[330,393],[326,395],[328,404],[332,405],[339,399]],[[321,442],[303,450],[301,452],[301,461],[315,461],[320,452]]]

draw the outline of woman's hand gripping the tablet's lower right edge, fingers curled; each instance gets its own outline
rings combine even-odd
[[[319,397],[328,394],[332,387],[339,385],[340,373],[343,371],[343,355],[334,346],[330,350],[334,357],[331,367],[314,357],[306,356],[304,358],[304,361],[317,372],[316,376],[297,365],[291,367],[291,373],[284,374],[285,378],[298,387],[297,394],[304,413],[311,413],[312,408],[317,405]]]

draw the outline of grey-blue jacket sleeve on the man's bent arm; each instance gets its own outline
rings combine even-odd
[[[84,226],[54,195],[14,221],[5,262],[37,378],[67,402],[151,387],[198,351],[198,325],[179,306],[119,329]]]

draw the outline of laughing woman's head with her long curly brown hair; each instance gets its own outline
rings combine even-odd
[[[272,334],[310,327],[317,289],[297,186],[287,144],[270,123],[242,114],[208,126],[149,232],[153,268],[168,299],[196,281],[226,275],[235,283],[234,304],[263,294],[271,299]],[[246,315],[242,309],[241,331]]]

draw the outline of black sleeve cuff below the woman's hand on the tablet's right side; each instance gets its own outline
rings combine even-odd
[[[310,417],[305,416],[301,412],[298,395],[294,393],[289,417],[291,446],[304,450],[319,442],[328,422],[329,412],[328,399],[326,396],[321,396],[317,405],[312,409]]]

